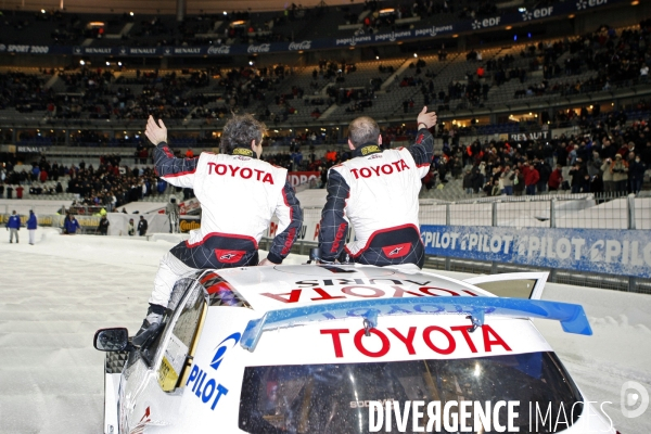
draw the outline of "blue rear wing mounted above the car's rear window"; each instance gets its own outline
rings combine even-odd
[[[373,328],[378,326],[379,316],[446,314],[471,317],[473,328],[483,326],[486,315],[556,319],[567,333],[592,335],[592,329],[580,305],[507,297],[445,296],[426,299],[374,298],[270,310],[264,317],[248,321],[240,345],[253,352],[265,331],[323,320],[357,317],[363,318],[365,323]]]

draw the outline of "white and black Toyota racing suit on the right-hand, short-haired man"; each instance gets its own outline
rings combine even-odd
[[[433,156],[432,135],[423,128],[409,148],[382,151],[366,144],[331,167],[319,231],[321,260],[422,268],[418,194]],[[348,222],[356,239],[345,244]]]

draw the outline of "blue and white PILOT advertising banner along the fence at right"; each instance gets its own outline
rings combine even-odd
[[[427,255],[651,278],[651,231],[421,226]]]

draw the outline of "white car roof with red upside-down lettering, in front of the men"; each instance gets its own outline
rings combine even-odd
[[[477,286],[445,276],[365,265],[231,268],[205,273],[202,283],[208,294],[221,297],[225,291],[232,291],[241,305],[260,312],[362,299],[495,297]]]

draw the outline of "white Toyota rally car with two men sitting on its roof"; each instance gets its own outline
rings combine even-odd
[[[126,329],[95,333],[104,433],[614,434],[531,321],[591,334],[580,306],[539,299],[546,279],[359,265],[188,276],[142,348]]]

